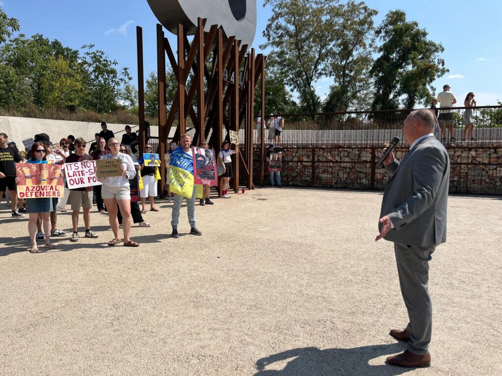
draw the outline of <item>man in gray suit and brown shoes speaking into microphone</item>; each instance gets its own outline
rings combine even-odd
[[[407,341],[406,351],[389,356],[388,364],[428,367],[432,307],[428,291],[429,261],[436,246],[446,241],[446,207],[450,161],[434,137],[436,119],[429,109],[413,111],[404,121],[403,134],[411,145],[401,163],[391,153],[384,161],[392,174],[382,201],[379,229],[394,242],[401,293],[410,322],[390,335]]]

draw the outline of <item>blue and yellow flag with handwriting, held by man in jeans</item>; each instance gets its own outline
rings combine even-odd
[[[191,150],[190,150],[191,151]],[[187,198],[193,194],[193,157],[180,146],[169,159],[169,189],[172,193]]]

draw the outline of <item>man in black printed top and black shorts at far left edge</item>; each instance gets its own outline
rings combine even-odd
[[[18,211],[18,186],[16,184],[16,163],[21,162],[21,155],[15,147],[9,147],[8,137],[5,133],[0,133],[0,199],[4,192],[9,189],[12,202],[13,218],[24,218]]]

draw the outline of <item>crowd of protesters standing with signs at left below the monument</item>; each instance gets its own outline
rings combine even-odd
[[[150,204],[149,211],[159,212],[159,209],[155,206],[155,199],[158,196],[157,177],[160,175],[159,166],[145,163],[142,154],[142,152],[153,153],[152,144],[147,143],[144,150],[138,150],[139,137],[137,133],[132,132],[130,126],[126,126],[125,133],[119,142],[114,133],[107,128],[105,122],[101,123],[101,131],[95,133],[95,139],[90,145],[87,145],[83,138],[75,138],[73,135],[68,135],[59,139],[59,142],[53,143],[46,133],[36,134],[33,141],[34,143],[29,149],[20,151],[15,143],[9,142],[6,133],[0,133],[0,200],[5,193],[6,198],[10,200],[13,218],[26,218],[23,213],[28,215],[30,252],[40,252],[37,242],[43,242],[43,245],[48,249],[56,248],[56,245],[51,242],[53,237],[69,238],[70,242],[78,242],[81,235],[83,238],[90,239],[99,238],[100,235],[104,236],[104,234],[98,234],[97,231],[92,229],[91,212],[94,202],[98,213],[108,214],[113,238],[106,244],[114,246],[123,241],[124,246],[138,247],[139,243],[132,239],[132,224],[137,223],[140,227],[151,227],[150,223],[145,221],[142,216],[147,213],[147,199]],[[181,149],[184,153],[191,155],[191,141],[190,136],[184,134],[180,137],[180,146],[174,141],[171,142],[166,153],[167,167],[169,166],[169,156],[173,151]],[[204,149],[210,148],[205,141],[200,146]],[[135,155],[137,152],[140,152],[138,160]],[[237,146],[235,146],[235,150],[232,150],[230,149],[230,142],[225,141],[217,154],[217,163],[223,167],[223,198],[230,198],[228,186],[233,176],[230,155],[236,152]],[[55,156],[57,157],[54,158]],[[102,185],[88,185],[69,189],[64,172],[65,164],[98,159],[120,159],[122,175],[98,178]],[[61,175],[59,177],[63,179],[65,185],[64,197],[18,199],[17,183],[19,177],[16,176],[16,163],[61,165]],[[141,175],[142,186],[139,197],[131,197],[130,181],[138,178],[137,174]],[[190,234],[202,235],[195,226],[195,185],[190,199],[170,192],[169,184],[166,184],[166,187],[168,188],[168,203],[173,203],[172,237],[179,237],[177,231],[178,218],[184,200],[187,202]],[[206,184],[203,186],[202,197],[199,199],[200,206],[214,204],[209,199],[209,194],[210,186]],[[71,207],[72,229],[71,233],[67,234],[59,229],[57,224],[58,211],[67,212],[66,207],[68,204]],[[83,233],[78,231],[80,213],[82,213],[83,217]],[[120,236],[120,229],[122,230],[122,237]]]

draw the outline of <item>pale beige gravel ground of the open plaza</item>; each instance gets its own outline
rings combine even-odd
[[[449,198],[430,271],[432,366],[411,370],[384,364],[404,349],[388,332],[407,314],[393,245],[374,242],[381,200],[258,189],[197,206],[201,237],[183,207],[180,239],[161,201],[152,228],[133,228],[140,248],[107,247],[108,218],[92,213],[99,239],[56,238],[40,254],[3,203],[0,374],[502,374],[502,199]],[[70,212],[58,227],[70,231]]]

